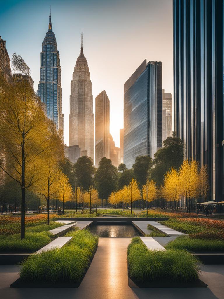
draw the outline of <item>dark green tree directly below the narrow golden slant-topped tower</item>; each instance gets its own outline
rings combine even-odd
[[[117,168],[112,165],[108,158],[102,158],[99,161],[99,167],[96,170],[94,181],[100,199],[108,199],[108,196],[117,187]]]

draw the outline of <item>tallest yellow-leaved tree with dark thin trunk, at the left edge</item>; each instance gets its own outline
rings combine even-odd
[[[29,74],[24,65],[15,63],[13,67]],[[0,168],[21,188],[21,239],[25,234],[25,190],[37,183],[39,158],[49,147],[47,118],[25,84],[26,80],[10,84],[0,78],[0,148],[6,155],[6,167],[1,164]]]

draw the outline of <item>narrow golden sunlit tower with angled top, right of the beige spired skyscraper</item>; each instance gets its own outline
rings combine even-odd
[[[110,158],[110,100],[103,90],[96,97],[95,166],[103,158]]]

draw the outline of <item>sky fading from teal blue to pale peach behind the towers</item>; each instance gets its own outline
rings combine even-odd
[[[70,81],[81,47],[95,97],[110,99],[110,132],[119,147],[124,83],[145,60],[162,61],[162,85],[173,94],[172,0],[0,0],[0,36],[10,58],[16,52],[30,67],[34,90],[40,80],[40,52],[49,10],[62,69],[64,141],[68,145]]]

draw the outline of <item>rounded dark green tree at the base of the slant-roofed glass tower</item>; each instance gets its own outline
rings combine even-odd
[[[149,170],[152,167],[152,158],[148,156],[139,156],[135,158],[135,163],[132,165],[134,176],[142,187],[149,176]]]

